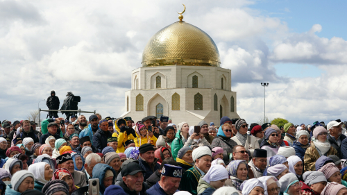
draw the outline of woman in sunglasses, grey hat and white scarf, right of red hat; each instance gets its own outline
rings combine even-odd
[[[267,151],[267,163],[269,164],[270,158],[278,153],[277,138],[278,133],[273,128],[265,130],[265,139],[260,144],[260,149]]]

